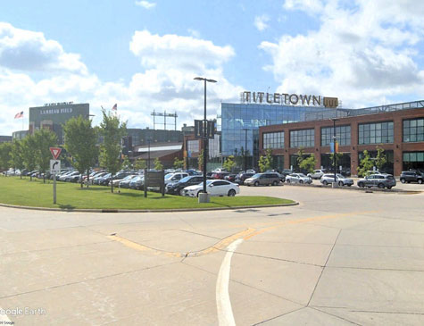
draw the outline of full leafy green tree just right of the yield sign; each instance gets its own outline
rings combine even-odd
[[[71,164],[79,173],[87,171],[87,184],[89,170],[96,164],[98,148],[96,146],[96,130],[91,126],[91,121],[82,116],[71,118],[63,126],[65,136],[65,149],[71,155]],[[81,178],[82,188],[82,178]]]

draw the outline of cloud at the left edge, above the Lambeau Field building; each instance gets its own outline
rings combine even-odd
[[[43,33],[16,29],[0,22],[0,67],[20,71],[71,71],[85,74],[79,54],[69,54]]]

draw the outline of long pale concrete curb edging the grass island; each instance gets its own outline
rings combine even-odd
[[[201,211],[224,211],[224,210],[237,210],[237,209],[250,209],[250,208],[264,208],[264,207],[284,207],[299,205],[298,202],[291,204],[274,204],[274,205],[253,205],[253,206],[233,206],[233,207],[204,207],[204,208],[174,208],[174,209],[89,209],[89,208],[50,208],[50,207],[31,207],[8,205],[0,203],[0,206],[7,208],[27,209],[32,211],[51,211],[51,212],[85,212],[85,213],[178,213],[178,212],[201,212]]]

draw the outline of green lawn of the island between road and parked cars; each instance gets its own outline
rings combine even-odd
[[[48,183],[47,183],[48,182]],[[29,178],[0,177],[0,203],[35,207],[56,207],[62,209],[176,209],[199,207],[234,207],[252,205],[278,205],[294,203],[292,200],[269,196],[211,197],[211,203],[198,204],[197,198],[170,196],[143,191],[102,186],[79,188],[79,184],[57,182],[57,204],[53,204],[53,181],[29,181]],[[243,191],[243,190],[242,190]]]

